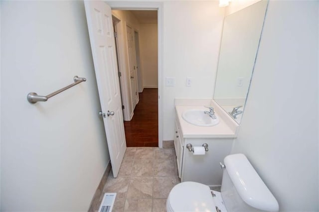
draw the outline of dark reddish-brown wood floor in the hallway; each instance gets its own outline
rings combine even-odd
[[[124,121],[128,147],[159,146],[158,89],[144,89],[139,94],[131,121]]]

